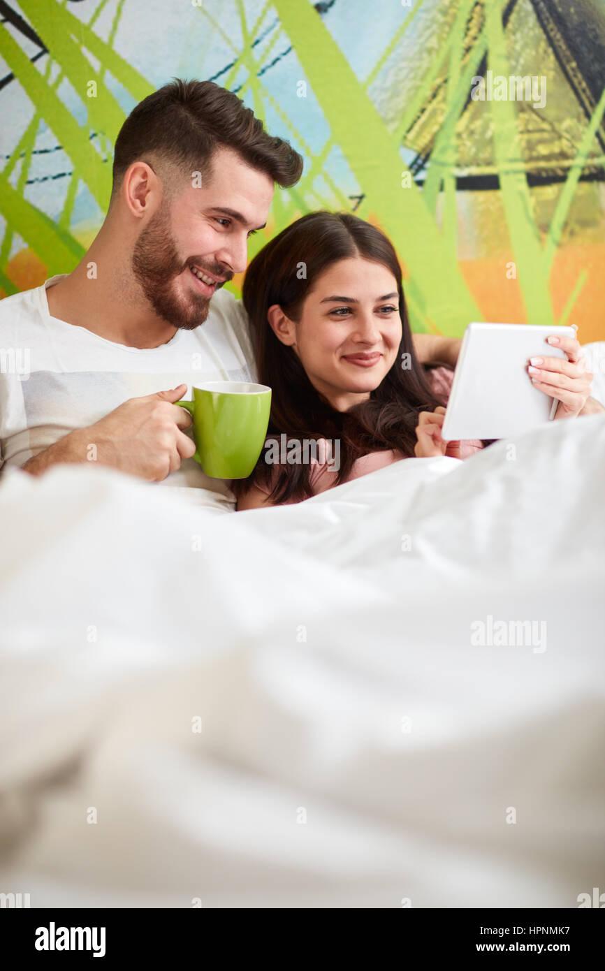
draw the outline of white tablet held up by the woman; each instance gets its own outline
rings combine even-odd
[[[444,440],[511,438],[552,420],[558,402],[531,384],[529,358],[566,357],[546,338],[575,334],[573,327],[469,323],[443,423]]]

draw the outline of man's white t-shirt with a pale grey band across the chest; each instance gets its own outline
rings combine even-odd
[[[248,317],[219,289],[208,318],[158,348],[128,348],[50,316],[46,284],[0,300],[0,468],[21,466],[76,428],[129,398],[177,385],[255,381]],[[229,483],[209,479],[192,458],[159,485],[199,489],[202,505],[234,508]]]

